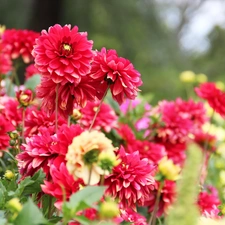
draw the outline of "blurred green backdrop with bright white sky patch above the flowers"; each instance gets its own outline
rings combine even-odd
[[[142,74],[142,93],[184,97],[179,74],[225,80],[224,0],[0,0],[0,24],[41,31],[56,23],[87,31]]]

